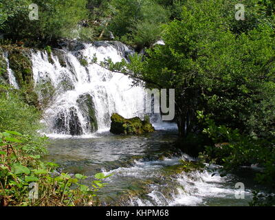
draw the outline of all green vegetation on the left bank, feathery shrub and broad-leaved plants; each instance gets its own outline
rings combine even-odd
[[[0,206],[96,205],[95,193],[105,186],[101,179],[106,177],[96,174],[89,187],[81,182],[87,177],[58,173],[57,164],[42,162],[47,137],[36,133],[40,118],[41,112],[25,102],[20,90],[0,85]],[[39,199],[29,197],[33,182]]]

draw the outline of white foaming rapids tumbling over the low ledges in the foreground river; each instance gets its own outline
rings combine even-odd
[[[193,160],[192,157],[183,155],[181,158],[165,158],[162,161],[135,161],[135,165],[130,168],[120,167],[109,172],[102,171],[105,175],[114,174],[107,179],[110,184],[119,177],[164,178],[163,183],[149,185],[151,192],[146,195],[148,199],[144,199],[144,196],[132,197],[126,204],[128,206],[208,206],[209,200],[213,199],[228,199],[233,206],[239,202],[235,198],[236,189],[231,183],[232,176],[221,177],[217,170],[182,172],[165,179],[161,172],[162,168],[179,164],[179,159]],[[167,192],[170,196],[167,196]],[[251,190],[246,189],[245,197],[249,200],[251,196]]]

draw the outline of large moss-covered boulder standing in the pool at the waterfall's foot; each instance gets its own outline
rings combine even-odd
[[[145,120],[142,121],[138,117],[126,119],[117,113],[113,113],[113,115],[111,115],[111,133],[138,135],[153,131],[155,131],[155,129],[150,123],[148,116],[146,116]]]

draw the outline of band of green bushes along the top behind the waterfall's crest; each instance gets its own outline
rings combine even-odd
[[[179,17],[181,1],[153,0],[51,0],[0,1],[2,44],[42,47],[60,39],[83,41],[112,39],[149,47],[161,37],[162,24]],[[31,3],[39,19],[30,20]]]

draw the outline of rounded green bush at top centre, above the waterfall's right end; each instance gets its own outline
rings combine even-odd
[[[162,5],[148,0],[112,0],[113,19],[109,30],[120,41],[131,43],[138,48],[149,47],[160,39],[162,24],[170,17],[170,12]]]

